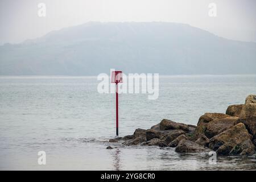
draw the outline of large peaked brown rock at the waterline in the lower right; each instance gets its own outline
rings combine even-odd
[[[246,130],[245,125],[243,123],[238,123],[230,129],[225,130],[211,138],[209,148],[216,150],[217,154],[232,155],[230,152],[233,150],[233,148],[240,147],[241,150],[239,151],[239,155],[251,154],[254,151],[247,151],[248,146],[253,148],[251,138],[252,136]],[[244,143],[246,140],[249,140],[247,144]],[[233,151],[233,154],[234,153],[235,152]]]

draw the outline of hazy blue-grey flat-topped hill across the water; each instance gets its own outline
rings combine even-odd
[[[98,23],[0,46],[0,75],[256,73],[256,43],[180,23]]]

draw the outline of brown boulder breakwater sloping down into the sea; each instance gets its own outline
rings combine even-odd
[[[197,126],[163,119],[151,129],[136,129],[133,135],[110,139],[122,144],[175,147],[176,152],[206,152],[219,155],[253,155],[256,146],[256,95],[245,104],[230,105],[226,114],[205,113]]]

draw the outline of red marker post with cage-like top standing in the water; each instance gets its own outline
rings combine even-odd
[[[121,71],[113,71],[112,72],[112,77],[111,77],[111,82],[115,83],[115,111],[116,111],[116,131],[117,131],[117,136],[118,136],[118,83],[123,82],[122,78],[122,72]]]

